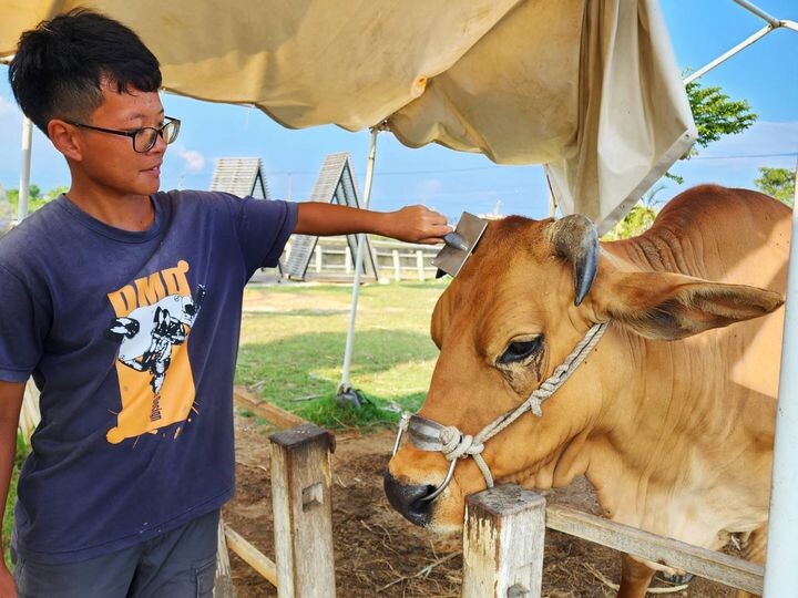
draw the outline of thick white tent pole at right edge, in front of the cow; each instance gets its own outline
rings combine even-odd
[[[794,204],[798,205],[798,164]],[[791,239],[765,564],[766,598],[794,594],[798,570],[798,209],[792,210]]]

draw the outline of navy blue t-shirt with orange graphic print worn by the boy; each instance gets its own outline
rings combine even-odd
[[[141,233],[61,196],[0,239],[0,380],[41,391],[13,537],[32,560],[132,546],[233,494],[243,290],[277,264],[296,205],[152,202]]]

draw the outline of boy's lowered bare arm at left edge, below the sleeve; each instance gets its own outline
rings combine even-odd
[[[24,382],[0,381],[0,505],[6,506],[11,472],[17,454],[17,429],[19,413],[24,396]],[[2,519],[4,511],[0,511],[0,538],[2,537]],[[17,596],[17,585],[0,558],[0,596]]]

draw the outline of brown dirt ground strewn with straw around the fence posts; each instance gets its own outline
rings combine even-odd
[[[269,482],[273,430],[252,419],[236,420],[235,498],[225,507],[225,522],[274,559],[274,527]],[[462,542],[433,537],[391,509],[382,493],[382,472],[393,434],[337,434],[332,455],[332,528],[336,588],[340,597],[448,597],[460,595]],[[584,480],[548,496],[598,513]],[[277,596],[277,590],[246,563],[231,554],[238,598]],[[615,591],[601,578],[617,584],[618,553],[549,530],[545,538],[543,596],[549,598],[611,597]],[[657,585],[664,585],[662,582]],[[687,590],[665,596],[726,598],[729,588],[695,578]]]

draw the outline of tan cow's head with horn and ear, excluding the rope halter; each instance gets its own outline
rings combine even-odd
[[[484,444],[497,483],[562,485],[585,471],[579,446],[628,383],[618,370],[633,368],[631,338],[683,339],[781,302],[753,287],[636,269],[600,249],[580,216],[493,221],[436,306],[431,332],[440,355],[419,415],[475,435],[524,402],[593,324],[610,322],[541,417],[525,413]],[[386,472],[390,503],[418,525],[459,528],[466,496],[485,481],[473,458],[459,460],[449,485],[424,501],[448,471],[441,453],[405,442]]]

